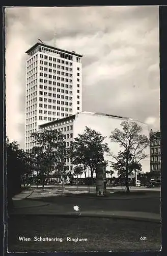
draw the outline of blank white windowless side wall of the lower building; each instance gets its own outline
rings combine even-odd
[[[86,129],[86,126],[90,127],[91,129],[94,129],[97,132],[100,132],[102,136],[106,136],[105,142],[108,143],[108,147],[110,148],[110,151],[112,151],[114,154],[117,154],[121,148],[118,143],[111,142],[108,138],[110,133],[118,128],[121,130],[121,122],[129,120],[129,119],[123,119],[123,118],[115,118],[115,117],[109,117],[109,116],[102,116],[102,115],[94,115],[94,114],[84,114],[79,113],[76,115],[76,119],[74,120],[74,127],[73,127],[73,137],[75,138],[78,134],[83,133]],[[135,120],[129,120],[129,121],[135,121]],[[140,126],[142,126],[143,134],[146,135],[149,138],[149,130],[148,126],[144,123],[141,123],[139,121],[135,121]],[[150,172],[150,148],[148,147],[146,149],[146,154],[148,157],[141,161],[142,164],[142,171],[143,172]],[[105,155],[105,160],[114,160],[110,156]],[[109,165],[106,167],[106,170],[109,170]],[[115,177],[117,177],[117,173],[114,174]],[[83,176],[84,177],[84,176]]]

